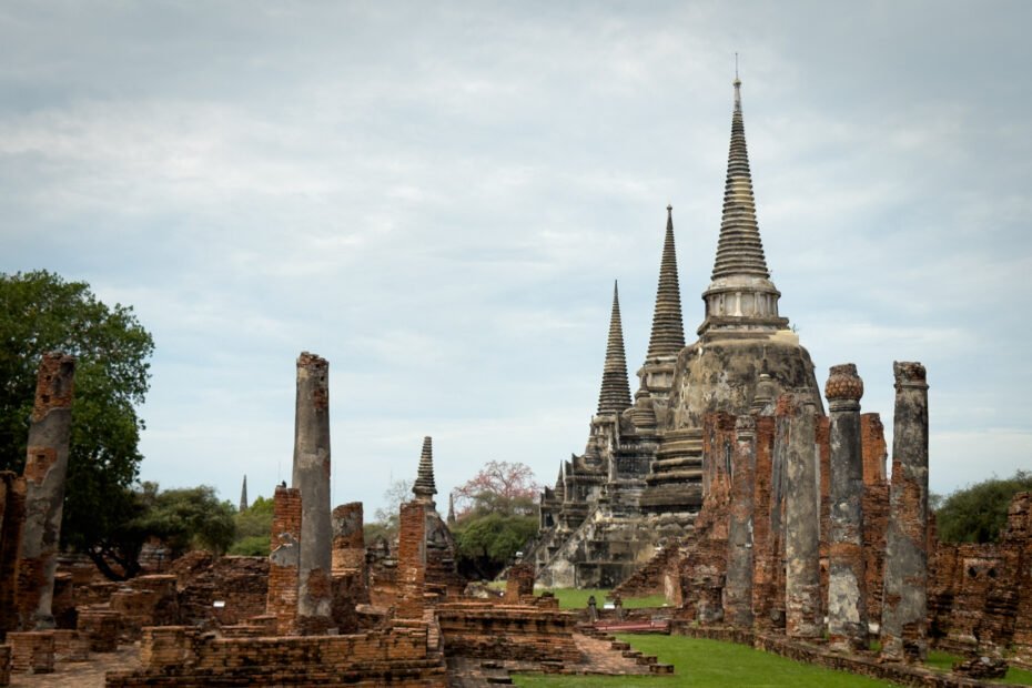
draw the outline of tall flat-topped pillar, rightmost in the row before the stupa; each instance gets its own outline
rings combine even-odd
[[[881,652],[888,659],[928,656],[928,382],[920,363],[892,364],[896,416],[886,535]]]

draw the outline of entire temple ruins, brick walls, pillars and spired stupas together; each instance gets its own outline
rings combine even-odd
[[[832,366],[819,387],[778,311],[739,87],[699,338],[686,346],[668,206],[634,401],[614,287],[586,449],[542,495],[542,532],[509,568],[504,595],[475,596],[457,570],[454,506],[447,519],[437,512],[431,437],[396,543],[365,542],[362,503],[331,504],[330,367],[310,353],[296,362],[292,479],[275,488],[267,557],[194,552],[124,583],[59,561],[74,360],[47,354],[23,475],[0,472],[0,686],[12,672],[112,656],[124,661],[107,685],[124,688],[672,671],[605,635],[621,623],[905,685],[978,685],[970,677],[992,676],[1004,651],[1032,667],[1032,494],[1013,499],[999,544],[939,543],[924,366],[893,366],[891,474],[881,417],[861,412],[856,366]],[[618,584],[615,608],[560,610],[555,597],[535,596],[535,581]],[[625,617],[621,597],[656,593],[670,606]],[[971,659],[932,675],[915,666],[930,647]]]

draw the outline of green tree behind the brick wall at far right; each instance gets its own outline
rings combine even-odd
[[[935,510],[939,539],[947,543],[995,543],[1006,525],[1006,509],[1020,492],[1032,490],[1032,473],[991,478],[947,497]]]

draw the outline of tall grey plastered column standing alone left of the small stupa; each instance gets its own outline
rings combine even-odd
[[[307,352],[297,358],[293,486],[301,490],[297,630],[302,635],[317,635],[330,628],[333,611],[330,364]]]

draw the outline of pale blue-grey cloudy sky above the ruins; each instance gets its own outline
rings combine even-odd
[[[141,478],[290,479],[295,361],[330,361],[333,503],[434,438],[581,453],[613,281],[631,389],[666,205],[686,338],[720,224],[735,54],[781,314],[892,419],[930,384],[931,488],[1032,467],[1028,2],[0,4],[0,272],[154,336]],[[891,439],[890,439],[891,443]],[[891,444],[890,444],[891,446]]]

